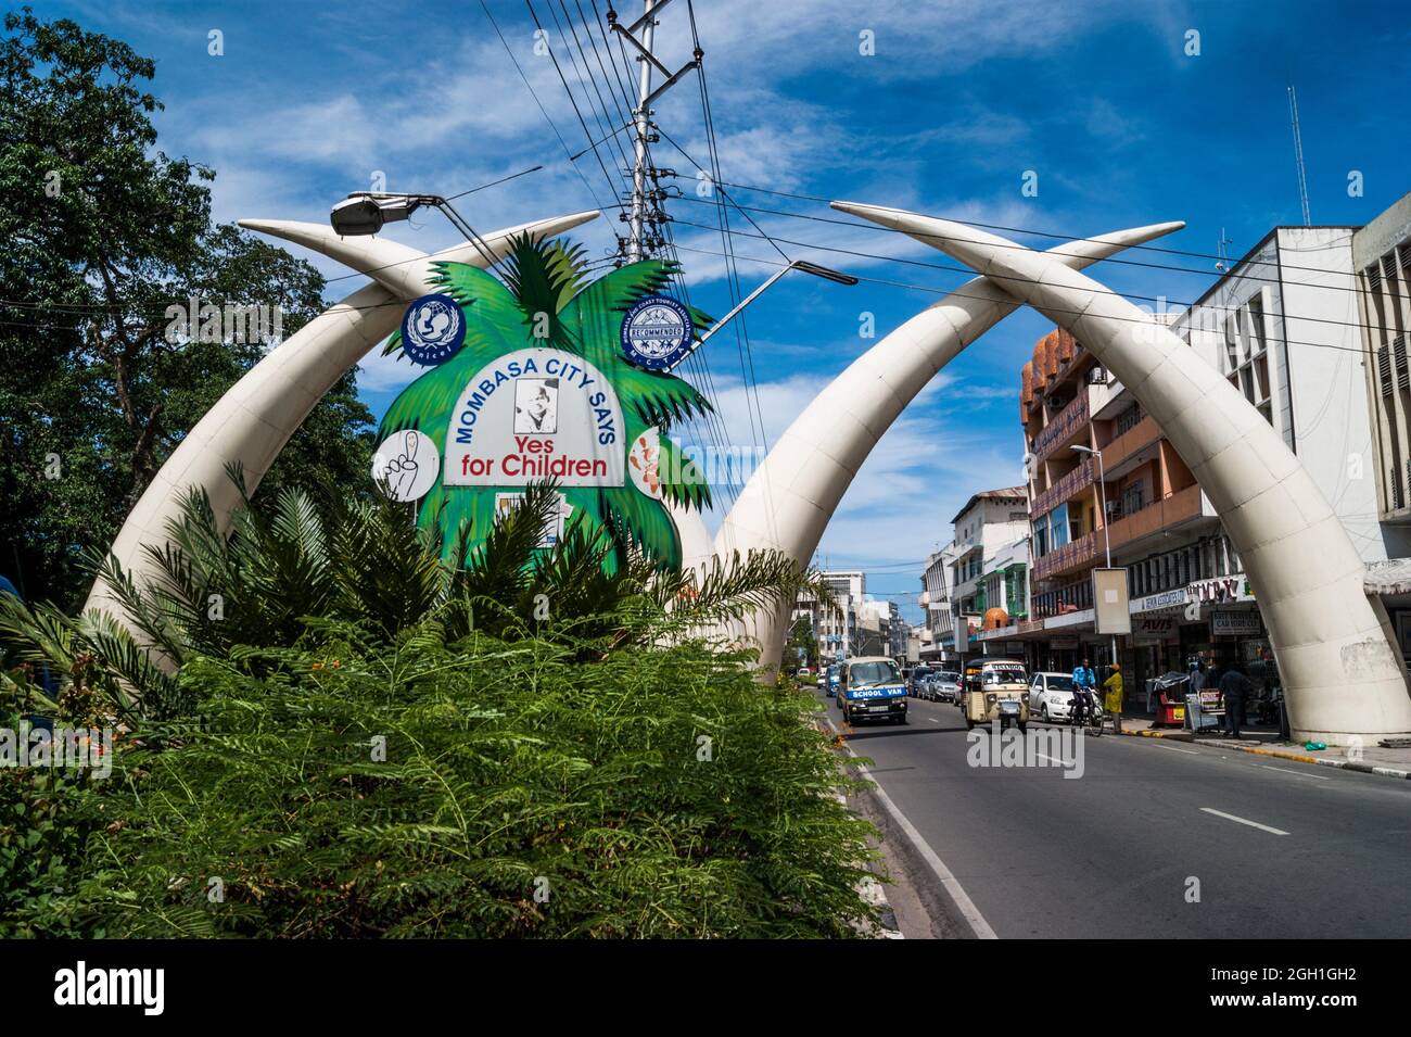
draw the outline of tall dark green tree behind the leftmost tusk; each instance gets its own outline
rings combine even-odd
[[[230,327],[168,336],[168,308],[278,308],[288,336],[323,309],[323,279],[212,222],[214,172],[157,147],[150,58],[28,8],[4,30],[0,571],[69,605],[86,590],[80,552],[111,542],[181,437],[268,348]],[[351,484],[371,463],[370,420],[350,374],[265,485],[319,473]]]

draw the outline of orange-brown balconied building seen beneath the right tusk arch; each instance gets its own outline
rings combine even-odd
[[[1213,650],[1209,617],[1187,618],[1191,597],[1206,594],[1202,583],[1219,588],[1221,605],[1253,617],[1236,615],[1223,629],[1259,625],[1239,559],[1191,470],[1068,332],[1034,346],[1020,374],[1020,420],[1033,578],[1020,638],[1033,667],[1067,670],[1084,656],[1110,662],[1110,639],[1094,632],[1091,577],[1109,546],[1112,564],[1127,569],[1132,598],[1133,632],[1119,645],[1129,697],[1147,677]]]

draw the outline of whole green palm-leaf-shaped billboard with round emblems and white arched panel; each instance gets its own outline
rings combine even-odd
[[[381,471],[395,477],[399,499],[416,501],[418,525],[437,535],[447,560],[464,538],[471,550],[484,543],[528,487],[552,481],[560,507],[540,547],[562,545],[570,529],[611,530],[653,566],[679,569],[676,512],[704,511],[711,494],[674,427],[713,408],[645,354],[629,363],[622,343],[669,361],[673,343],[689,346],[710,317],[662,296],[680,275],[673,262],[594,277],[564,241],[525,236],[511,253],[518,277],[505,279],[432,264],[433,293],[412,305],[384,354],[435,365],[382,416]]]

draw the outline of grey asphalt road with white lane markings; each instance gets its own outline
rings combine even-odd
[[[1411,935],[1411,782],[1110,734],[1081,777],[979,768],[959,710],[909,711],[849,745],[1000,937]]]

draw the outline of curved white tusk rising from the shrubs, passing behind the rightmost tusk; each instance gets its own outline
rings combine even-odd
[[[834,202],[834,209],[872,217],[872,206]],[[862,212],[866,210],[866,212]],[[1118,230],[1070,241],[1050,254],[1070,267],[1088,267],[1184,223]],[[1013,313],[1020,302],[1005,282],[975,278],[917,313],[852,361],[779,437],[745,484],[720,532],[715,554],[775,549],[807,564],[844,492],[902,411],[969,343]],[[783,650],[787,615],[758,612],[734,638],[761,648],[761,665]]]

